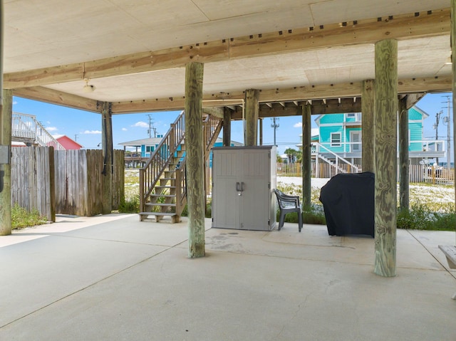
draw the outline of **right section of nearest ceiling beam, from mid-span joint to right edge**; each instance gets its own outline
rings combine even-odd
[[[388,39],[408,39],[450,33],[450,9],[385,16],[330,25],[234,38],[230,58],[264,56],[278,52],[303,51],[331,46],[375,43]]]

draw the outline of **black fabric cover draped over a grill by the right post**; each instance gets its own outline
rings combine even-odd
[[[328,234],[374,236],[374,190],[371,172],[337,174],[321,187]]]

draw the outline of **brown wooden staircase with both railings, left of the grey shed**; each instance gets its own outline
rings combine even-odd
[[[209,158],[220,130],[222,119],[204,115],[204,160]],[[170,217],[172,223],[180,221],[187,204],[184,141],[185,112],[182,111],[140,169],[140,221],[150,216],[155,216],[157,222],[165,216]]]

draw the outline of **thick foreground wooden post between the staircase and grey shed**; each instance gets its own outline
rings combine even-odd
[[[185,67],[185,146],[187,152],[188,256],[204,257],[204,148],[202,80],[204,64]]]

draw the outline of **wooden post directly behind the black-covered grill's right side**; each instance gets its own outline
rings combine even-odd
[[[374,112],[375,112],[375,81],[373,79],[363,81],[361,90],[361,115],[363,115],[362,137],[362,168],[363,172],[374,172]]]

